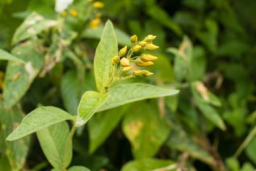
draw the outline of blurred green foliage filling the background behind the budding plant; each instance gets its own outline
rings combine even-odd
[[[130,46],[130,35],[157,35],[159,60],[150,66],[155,75],[136,81],[180,93],[96,113],[77,130],[72,165],[95,171],[255,170],[256,1],[104,0],[103,8],[93,3],[75,0],[58,15],[50,0],[0,1],[0,48],[38,58],[33,62],[40,70],[15,84],[6,79],[14,69],[0,61],[1,89],[19,94],[6,95],[10,109],[1,99],[0,170],[51,170],[35,136],[14,143],[5,138],[38,105],[76,114],[82,92],[95,90],[94,50],[108,18],[120,47]],[[19,27],[32,12],[47,18],[37,39]],[[65,20],[59,34],[42,28],[53,20]],[[32,43],[20,43],[24,39]],[[36,46],[40,53],[33,51]]]

